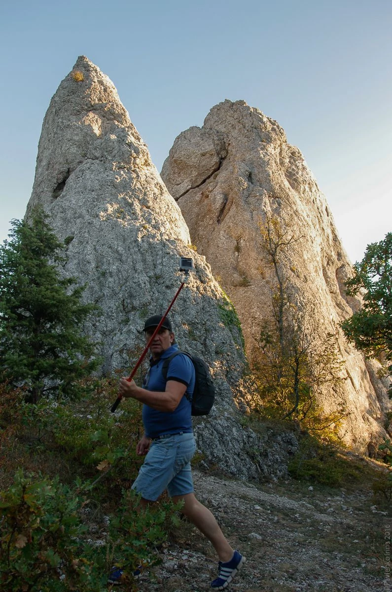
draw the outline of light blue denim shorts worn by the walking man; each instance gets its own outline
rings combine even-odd
[[[193,493],[190,461],[195,450],[192,433],[153,440],[132,489],[149,501],[158,500],[165,489],[170,497]]]

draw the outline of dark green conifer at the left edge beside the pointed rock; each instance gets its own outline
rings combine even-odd
[[[62,278],[63,244],[35,210],[31,223],[13,220],[0,246],[0,374],[24,385],[27,400],[75,397],[80,378],[97,368],[95,345],[82,323],[97,308],[82,304],[84,287]]]

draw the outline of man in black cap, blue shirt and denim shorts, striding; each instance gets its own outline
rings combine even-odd
[[[146,341],[162,316],[147,318],[144,324]],[[158,500],[166,489],[176,503],[184,500],[181,512],[213,544],[219,556],[219,577],[211,587],[223,590],[240,570],[245,557],[229,545],[216,519],[194,494],[190,461],[196,445],[192,431],[191,399],[195,385],[195,369],[185,354],[174,356],[166,379],[162,374],[165,359],[178,351],[172,325],[165,318],[150,345],[150,369],[143,387],[122,378],[119,392],[143,403],[144,435],[137,444],[137,454],[145,455],[144,464],[132,488],[142,496],[142,506]]]

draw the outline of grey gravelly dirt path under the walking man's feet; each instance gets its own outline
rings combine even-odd
[[[197,496],[248,561],[228,590],[383,590],[387,513],[365,491],[331,492],[296,481],[250,485],[194,472]],[[183,522],[163,562],[142,575],[139,592],[201,592],[217,575],[210,543]]]

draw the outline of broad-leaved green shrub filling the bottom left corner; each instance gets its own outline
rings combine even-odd
[[[24,477],[0,501],[0,582],[9,592],[98,590],[91,584],[92,565],[81,556],[79,538],[85,528],[78,496],[66,485]]]

